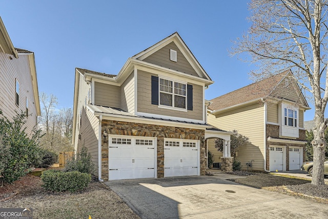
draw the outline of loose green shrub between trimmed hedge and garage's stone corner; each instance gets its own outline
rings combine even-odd
[[[64,172],[79,171],[81,173],[93,173],[95,170],[94,163],[92,163],[91,155],[88,154],[88,149],[83,146],[80,153],[72,157],[71,161],[65,164]]]

